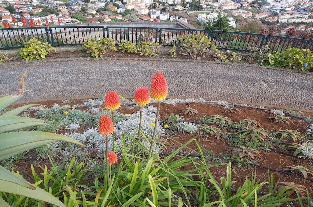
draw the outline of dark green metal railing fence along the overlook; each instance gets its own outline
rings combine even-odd
[[[49,42],[52,46],[82,45],[87,38],[109,37],[115,43],[125,39],[132,43],[151,41],[162,46],[179,46],[179,35],[204,34],[217,49],[256,51],[268,45],[267,52],[282,52],[287,48],[312,49],[313,40],[234,31],[210,31],[182,28],[125,26],[45,26],[0,29],[0,50],[21,48],[31,38]]]

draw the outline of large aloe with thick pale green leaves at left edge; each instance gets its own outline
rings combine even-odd
[[[27,70],[21,77],[19,93],[0,98],[0,112],[22,98],[24,94],[24,78],[26,72]],[[16,132],[19,129],[28,127],[49,125],[40,119],[17,116],[24,110],[35,105],[38,104],[28,104],[26,106],[15,108],[0,116],[0,161],[35,147],[58,141],[72,142],[85,147],[85,145],[73,138],[58,134],[48,132]],[[27,182],[21,176],[14,175],[2,166],[0,166],[0,191],[23,195],[56,206],[65,207],[65,205],[53,195]],[[9,206],[2,198],[0,198],[0,204],[1,206]]]

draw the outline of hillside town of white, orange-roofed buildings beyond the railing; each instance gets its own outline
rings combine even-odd
[[[280,26],[282,35],[289,28],[298,31],[313,30],[313,2],[309,0],[122,1],[0,0],[0,26],[179,21],[189,24],[189,28],[211,29],[207,26],[208,23],[223,18],[228,24],[227,30],[232,31],[241,31],[251,21],[261,27]],[[253,29],[245,32],[251,30]]]

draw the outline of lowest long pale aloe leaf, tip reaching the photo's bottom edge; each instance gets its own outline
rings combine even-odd
[[[53,195],[49,194],[48,192],[42,190],[39,187],[36,187],[36,190],[31,190],[29,188],[26,188],[24,186],[12,182],[0,180],[0,191],[22,195],[36,200],[42,200],[44,202],[51,203],[60,207],[66,207],[61,201],[59,201]]]

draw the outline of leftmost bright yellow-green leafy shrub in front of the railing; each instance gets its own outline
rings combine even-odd
[[[48,42],[42,43],[36,38],[25,43],[24,48],[19,50],[22,59],[28,60],[46,60],[46,55],[55,52],[55,48]]]

